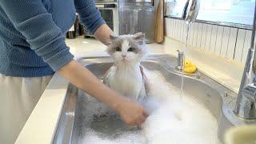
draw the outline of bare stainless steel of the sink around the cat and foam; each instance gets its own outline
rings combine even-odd
[[[109,57],[80,58],[78,60],[93,72],[98,78],[102,78],[106,70],[113,65]],[[167,55],[150,55],[142,61],[142,66],[148,70],[158,70],[173,86],[181,86],[181,74],[175,70],[177,59]],[[200,78],[185,76],[184,91],[205,106],[214,114],[218,120],[218,137],[223,139],[223,134],[231,126],[243,124],[256,124],[255,120],[245,120],[237,118],[233,114],[235,99],[234,92],[218,84],[204,74]],[[81,132],[82,112],[84,101],[78,97],[78,88],[71,85],[66,92],[66,102],[63,106],[62,114],[58,122],[58,128],[54,137],[54,143],[77,143]]]

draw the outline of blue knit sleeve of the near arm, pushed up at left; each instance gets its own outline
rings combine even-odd
[[[1,0],[0,6],[31,49],[53,70],[60,69],[74,58],[66,46],[62,30],[55,24],[42,0]]]

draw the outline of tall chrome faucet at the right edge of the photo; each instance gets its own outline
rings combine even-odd
[[[246,58],[246,65],[242,74],[242,82],[238,92],[234,114],[241,118],[256,119],[256,2],[254,8],[254,24],[250,41],[250,49]]]

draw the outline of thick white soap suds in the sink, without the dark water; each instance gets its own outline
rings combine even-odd
[[[217,144],[218,124],[214,115],[189,95],[180,98],[180,91],[165,81],[162,74],[146,71],[150,82],[149,99],[143,105],[150,116],[142,130],[125,131],[116,137],[105,137],[85,126],[79,143],[175,143]],[[103,106],[104,107],[104,106]],[[87,106],[92,112],[101,108],[94,103]]]

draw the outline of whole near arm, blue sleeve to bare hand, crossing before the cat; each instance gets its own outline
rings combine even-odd
[[[0,6],[10,18],[15,29],[26,38],[30,48],[53,70],[59,70],[60,74],[75,86],[82,86],[83,90],[89,90],[92,96],[106,102],[118,111],[126,123],[135,124],[143,120],[141,106],[122,98],[113,90],[104,88],[89,70],[72,60],[73,55],[66,46],[62,30],[55,24],[52,15],[47,12],[41,0],[1,0]],[[90,75],[90,78],[86,75]],[[90,82],[93,85],[90,86]],[[98,90],[106,90],[107,93],[104,92],[103,97]],[[106,94],[108,96],[105,97]]]

